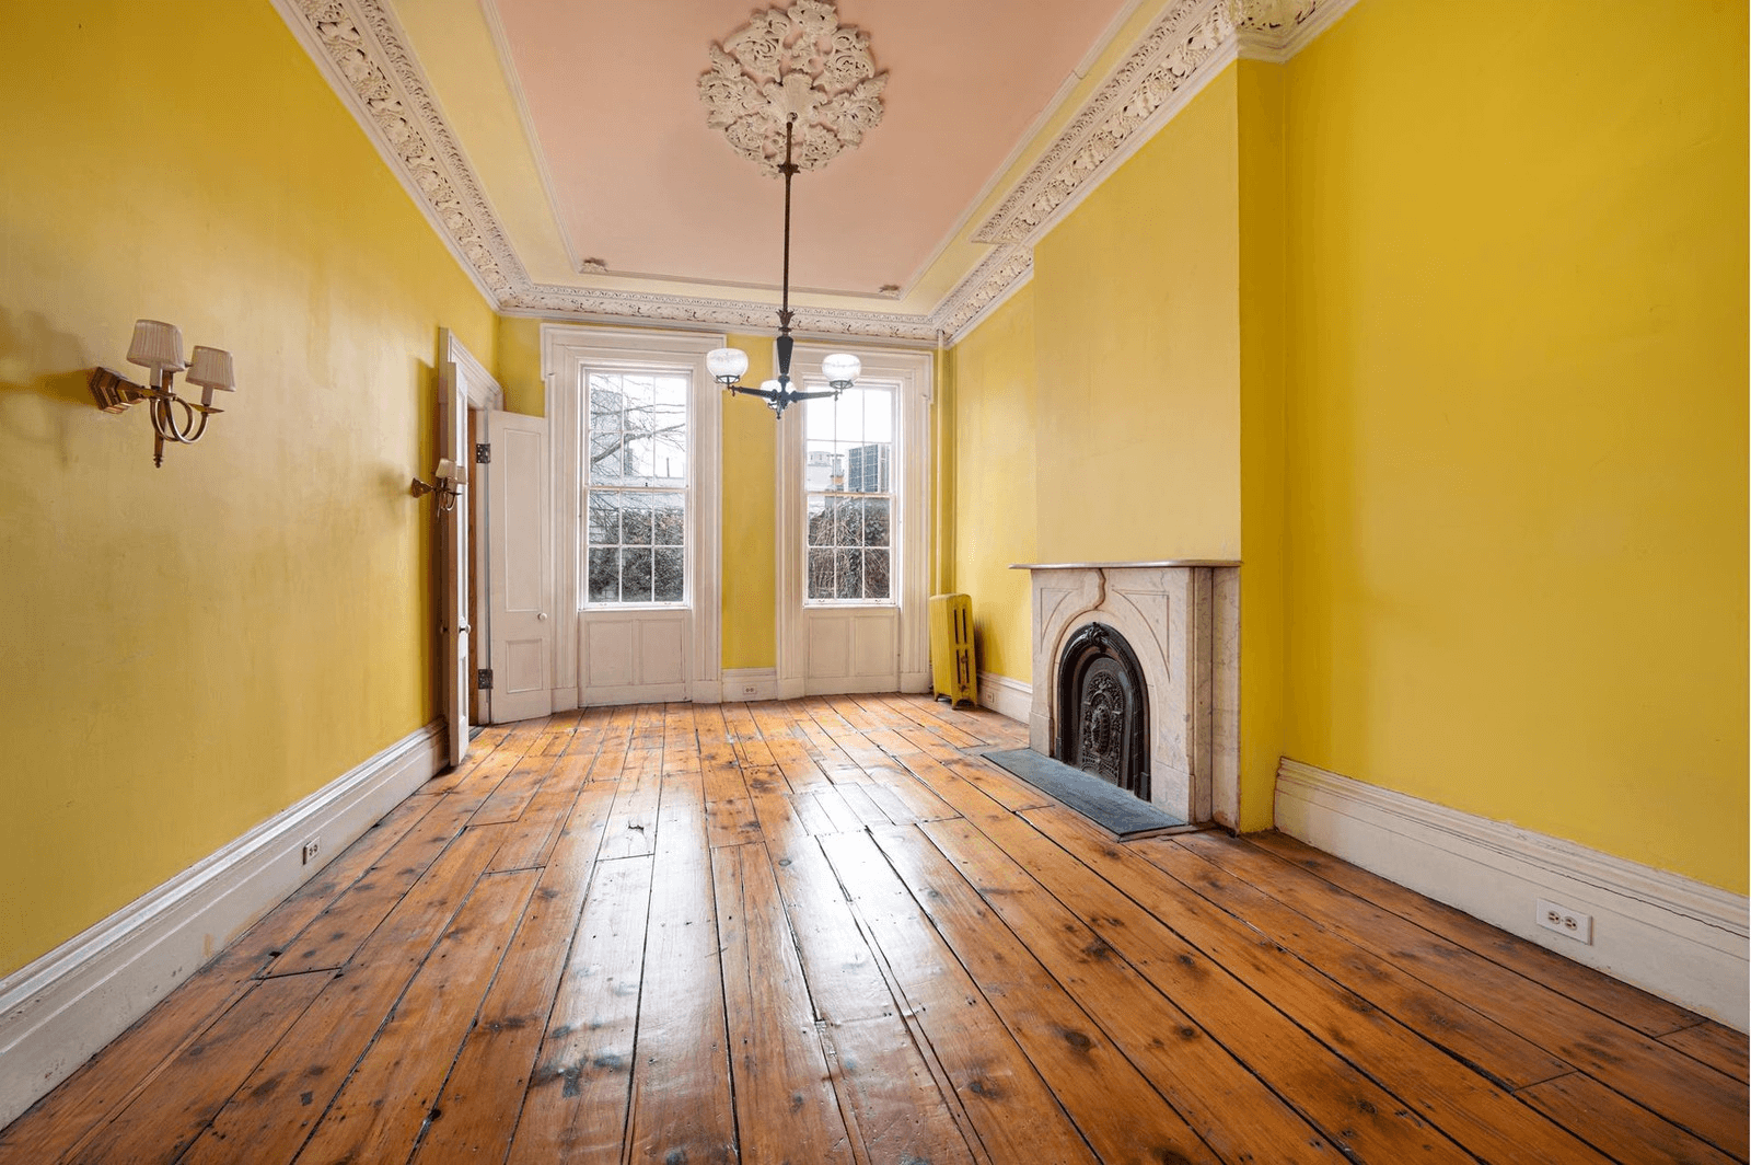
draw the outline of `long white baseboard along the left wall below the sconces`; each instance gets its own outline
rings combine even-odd
[[[396,741],[0,979],[0,1128],[121,1035],[448,760],[443,722]],[[303,864],[303,843],[322,841]]]

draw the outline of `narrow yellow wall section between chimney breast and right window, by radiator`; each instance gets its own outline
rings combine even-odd
[[[1028,571],[1035,555],[1033,287],[1023,287],[951,354],[954,590],[972,597],[979,669],[1033,673]]]

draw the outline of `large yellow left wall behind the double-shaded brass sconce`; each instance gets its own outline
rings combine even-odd
[[[163,16],[0,37],[0,974],[438,715],[406,484],[494,315],[271,5]],[[86,389],[137,317],[236,357],[161,470]]]

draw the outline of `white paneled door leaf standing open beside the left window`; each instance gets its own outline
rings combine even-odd
[[[487,412],[492,722],[553,711],[553,520],[545,417]]]

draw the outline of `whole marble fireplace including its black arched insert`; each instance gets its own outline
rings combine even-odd
[[[1240,823],[1240,564],[1038,562],[1028,746]]]

